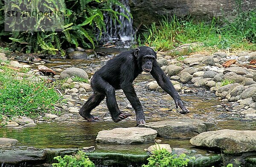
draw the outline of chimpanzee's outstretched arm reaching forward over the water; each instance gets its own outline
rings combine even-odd
[[[163,70],[160,68],[160,66],[157,64],[156,61],[153,62],[153,67],[150,74],[154,77],[154,79],[156,79],[158,85],[160,85],[160,87],[164,91],[166,91],[166,93],[172,96],[172,98],[174,99],[176,108],[178,108],[179,106],[182,109],[180,113],[181,114],[189,113],[189,110],[185,107],[182,100],[180,99],[180,95],[177,93],[177,91],[173,87],[172,82],[166,76],[166,74],[164,74]]]

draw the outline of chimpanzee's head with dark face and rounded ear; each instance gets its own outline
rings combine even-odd
[[[152,70],[153,62],[157,59],[156,52],[147,46],[140,46],[136,48],[134,56],[137,57],[139,66],[146,73],[149,73]]]

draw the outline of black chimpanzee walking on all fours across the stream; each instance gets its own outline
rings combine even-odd
[[[137,125],[144,124],[143,109],[132,85],[134,79],[142,71],[150,73],[156,79],[158,85],[172,96],[176,108],[179,106],[182,109],[181,114],[189,113],[169,78],[157,64],[156,59],[156,52],[147,46],[140,46],[132,51],[124,51],[110,59],[91,78],[90,82],[94,93],[79,110],[79,114],[87,121],[95,122],[99,118],[91,115],[90,112],[107,96],[108,110],[114,122],[119,122],[131,116],[131,114],[122,113],[117,106],[115,90],[122,89],[135,110]]]

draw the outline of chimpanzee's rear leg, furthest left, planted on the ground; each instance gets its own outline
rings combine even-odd
[[[87,102],[84,103],[83,107],[79,110],[80,116],[90,122],[95,122],[99,119],[96,116],[90,114],[93,108],[96,108],[97,105],[105,98],[105,95],[99,92],[94,92],[92,96],[89,97]]]

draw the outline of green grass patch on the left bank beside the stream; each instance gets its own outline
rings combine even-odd
[[[15,71],[0,66],[0,117],[28,116],[35,117],[41,113],[54,113],[54,104],[60,96],[53,84],[29,82],[26,78],[17,79]],[[24,69],[22,69],[24,70]]]

